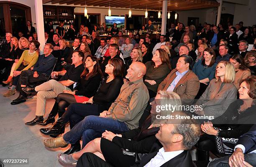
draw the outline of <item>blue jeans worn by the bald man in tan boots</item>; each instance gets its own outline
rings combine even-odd
[[[78,140],[83,140],[82,147],[108,130],[113,133],[122,133],[128,131],[124,122],[112,118],[102,118],[100,116],[86,116],[82,121],[76,124],[69,132],[64,134],[64,140],[69,144],[74,144]]]

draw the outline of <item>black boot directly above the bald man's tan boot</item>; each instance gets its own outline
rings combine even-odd
[[[40,132],[44,135],[50,135],[51,137],[57,137],[59,134],[65,132],[65,123],[56,121],[56,123],[50,128],[41,128]]]

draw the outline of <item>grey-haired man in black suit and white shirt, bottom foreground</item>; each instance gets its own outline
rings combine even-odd
[[[175,115],[187,116],[184,112]],[[189,123],[188,123],[189,122]],[[177,123],[177,122],[176,122]],[[201,133],[200,125],[192,119],[179,120],[179,124],[167,122],[161,124],[152,150],[141,158],[133,167],[193,167],[189,149],[197,143]],[[84,153],[77,162],[77,167],[113,167],[92,153]]]

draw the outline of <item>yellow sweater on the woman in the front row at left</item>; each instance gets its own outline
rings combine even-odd
[[[38,60],[38,53],[35,52],[33,55],[29,56],[28,55],[29,50],[25,50],[23,51],[18,64],[15,66],[14,70],[17,70],[20,67],[20,64],[23,62],[23,65],[26,66],[26,68],[24,68],[21,71],[24,70],[29,70],[32,66],[34,66]]]

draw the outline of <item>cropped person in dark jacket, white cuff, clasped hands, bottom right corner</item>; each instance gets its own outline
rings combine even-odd
[[[255,167],[256,166],[256,125],[241,135],[236,143],[235,151],[231,156],[213,159],[207,167],[220,167],[232,165],[233,167]]]

